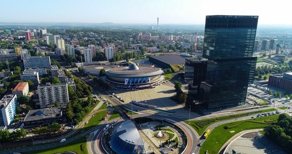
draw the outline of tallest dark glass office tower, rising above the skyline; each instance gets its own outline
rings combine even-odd
[[[256,68],[253,49],[257,24],[258,16],[206,16],[203,57],[208,63],[200,93],[207,109],[245,104]]]

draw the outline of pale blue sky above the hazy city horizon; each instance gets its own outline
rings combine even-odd
[[[0,22],[204,24],[206,15],[259,15],[259,25],[292,25],[289,1],[2,0]]]

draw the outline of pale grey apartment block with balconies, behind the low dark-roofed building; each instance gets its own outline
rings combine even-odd
[[[54,106],[55,102],[66,107],[69,102],[67,83],[38,85],[37,90],[40,108]]]

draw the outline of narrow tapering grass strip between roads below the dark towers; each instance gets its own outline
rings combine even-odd
[[[245,117],[247,115],[251,114],[256,114],[256,113],[262,113],[262,112],[269,112],[269,111],[276,111],[276,109],[266,109],[266,110],[259,110],[259,111],[254,111],[254,112],[247,112],[247,113],[239,113],[239,114],[233,114],[233,115],[226,115],[222,117],[217,117],[217,118],[211,118],[211,119],[204,119],[204,120],[196,120],[196,121],[190,121],[190,126],[192,126],[198,133],[199,135],[202,135],[205,129],[219,121],[223,120],[230,120],[230,119],[236,119],[240,117]],[[185,123],[189,123],[189,121],[184,121]]]

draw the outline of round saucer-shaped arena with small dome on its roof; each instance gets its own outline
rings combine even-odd
[[[106,71],[106,79],[118,88],[147,88],[164,82],[163,71],[156,67],[138,67],[131,64],[129,67],[112,68]]]

